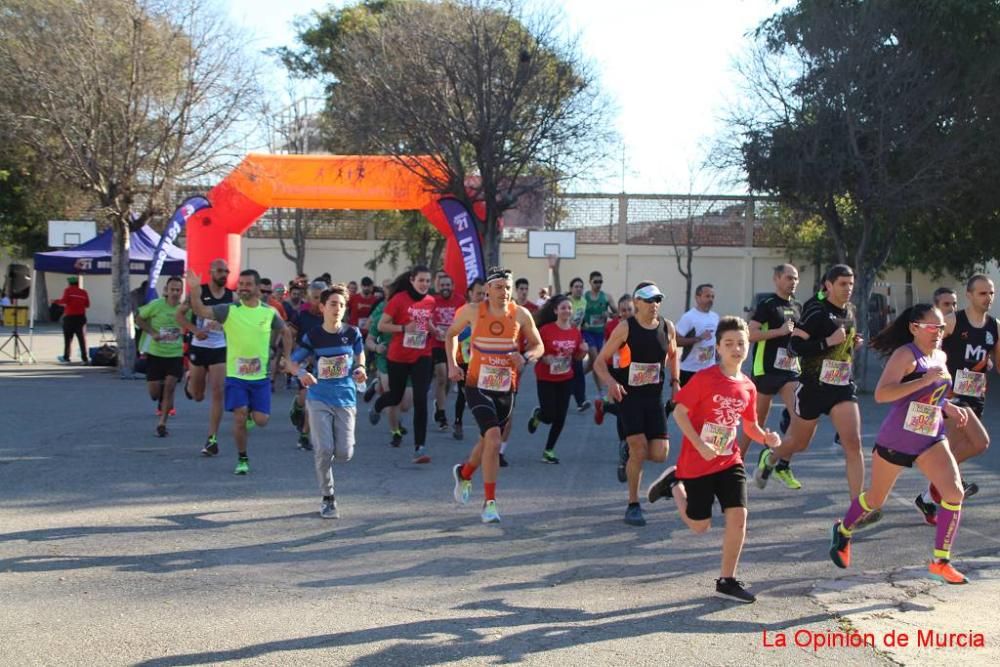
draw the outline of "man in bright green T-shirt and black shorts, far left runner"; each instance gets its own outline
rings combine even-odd
[[[184,281],[167,278],[164,296],[139,309],[136,324],[149,336],[146,355],[146,386],[149,397],[160,406],[156,435],[167,437],[167,419],[174,409],[174,390],[184,375],[184,341],[177,326],[177,311],[184,292]]]

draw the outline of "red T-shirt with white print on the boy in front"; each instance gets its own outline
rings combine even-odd
[[[726,377],[718,365],[711,366],[695,373],[674,394],[674,402],[688,409],[691,425],[701,434],[705,444],[711,445],[709,437],[714,435],[716,442],[724,446],[726,452],[731,452],[706,461],[685,436],[677,458],[678,479],[704,477],[743,465],[740,448],[736,444],[740,419],[757,421],[757,388],[745,375]]]

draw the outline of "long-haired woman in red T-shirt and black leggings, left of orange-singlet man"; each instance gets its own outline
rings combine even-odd
[[[368,413],[372,425],[378,424],[382,410],[399,405],[406,392],[406,381],[413,383],[413,441],[414,463],[430,463],[424,445],[427,439],[427,390],[430,388],[431,328],[434,317],[434,297],[427,293],[431,286],[431,272],[426,266],[414,266],[400,275],[393,283],[389,299],[378,330],[398,333],[389,343],[389,391],[379,396]]]

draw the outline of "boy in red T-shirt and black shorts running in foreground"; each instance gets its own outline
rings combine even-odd
[[[750,346],[750,330],[739,317],[723,317],[715,330],[719,363],[694,374],[674,395],[674,421],[684,434],[677,465],[667,468],[648,491],[649,502],[673,495],[681,520],[695,533],[712,525],[712,504],[719,500],[726,527],[722,537],[722,572],[716,595],[737,602],[756,598],[736,581],[747,524],[747,480],[736,443],[736,429],[751,440],[772,446],[776,433],[757,424],[757,389],[740,372]]]

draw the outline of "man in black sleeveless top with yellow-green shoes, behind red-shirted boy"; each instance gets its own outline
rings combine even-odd
[[[774,267],[774,293],[761,299],[750,317],[750,342],[754,344],[753,383],[757,387],[757,423],[767,424],[774,395],[779,394],[786,406],[795,403],[795,390],[799,386],[799,358],[788,353],[788,338],[795,330],[795,323],[802,313],[802,306],[795,301],[795,288],[799,272],[791,264]],[[790,419],[789,413],[789,419]],[[782,414],[782,432],[788,430]],[[750,438],[740,434],[740,455],[746,458]],[[789,489],[801,489],[787,460],[778,461],[774,476]]]

